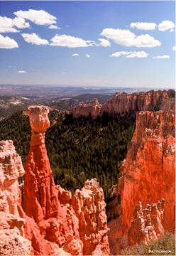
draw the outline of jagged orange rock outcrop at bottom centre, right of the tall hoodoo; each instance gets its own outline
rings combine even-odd
[[[79,219],[83,255],[109,255],[106,203],[97,179],[85,181],[84,188],[75,191],[71,204]]]

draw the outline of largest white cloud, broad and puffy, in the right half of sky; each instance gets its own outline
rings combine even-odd
[[[119,28],[104,28],[101,32],[101,36],[106,36],[106,38],[113,40],[115,43],[119,43],[121,46],[155,47],[161,45],[153,36],[145,34],[136,37],[131,31],[125,29],[121,30]]]

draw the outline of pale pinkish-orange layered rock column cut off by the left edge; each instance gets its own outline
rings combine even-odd
[[[0,255],[30,255],[25,220],[18,213],[18,180],[25,173],[13,142],[0,142]]]

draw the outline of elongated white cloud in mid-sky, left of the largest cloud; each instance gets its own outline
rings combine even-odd
[[[69,48],[92,46],[94,41],[84,41],[82,38],[75,38],[74,36],[55,35],[50,41],[50,46],[65,46]]]

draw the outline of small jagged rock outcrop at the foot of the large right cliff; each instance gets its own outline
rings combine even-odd
[[[165,199],[161,199],[158,203],[148,204],[144,209],[141,202],[137,204],[133,212],[131,228],[128,230],[129,245],[141,242],[147,245],[150,240],[156,240],[163,235],[164,228],[161,220],[163,220],[164,208]]]

